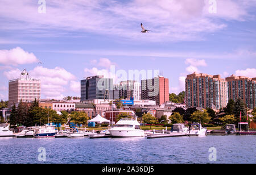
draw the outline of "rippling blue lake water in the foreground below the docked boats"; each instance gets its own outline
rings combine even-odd
[[[39,161],[43,147],[46,161]],[[210,161],[210,147],[216,161]],[[256,136],[179,138],[0,138],[0,163],[256,163]]]

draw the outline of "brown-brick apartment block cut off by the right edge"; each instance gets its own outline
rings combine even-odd
[[[256,107],[256,78],[247,78],[242,76],[230,76],[228,81],[229,99],[236,101],[238,98],[250,109]]]

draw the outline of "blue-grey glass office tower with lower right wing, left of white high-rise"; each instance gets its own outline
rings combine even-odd
[[[81,80],[81,102],[88,99],[118,99],[119,91],[113,86],[112,78],[87,77]]]

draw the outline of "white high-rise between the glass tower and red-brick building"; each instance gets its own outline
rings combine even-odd
[[[135,100],[141,99],[141,84],[137,81],[121,81],[118,84],[118,90],[120,98],[130,99],[130,97],[133,97]]]

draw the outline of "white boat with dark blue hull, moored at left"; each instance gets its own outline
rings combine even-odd
[[[55,130],[55,125],[44,125],[37,128],[35,131],[36,138],[54,138],[57,131]]]

